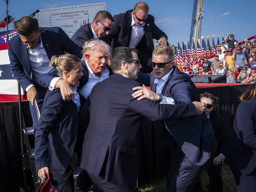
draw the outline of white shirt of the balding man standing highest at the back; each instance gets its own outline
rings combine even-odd
[[[135,48],[141,41],[142,37],[145,34],[144,26],[145,26],[145,23],[143,23],[141,26],[138,26],[135,23],[134,18],[132,17],[132,35],[131,35],[131,40],[129,45],[130,48]]]

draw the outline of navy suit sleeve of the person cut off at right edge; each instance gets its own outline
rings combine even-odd
[[[256,150],[255,109],[253,107],[255,106],[241,102],[236,111],[236,119],[240,139],[245,145]]]

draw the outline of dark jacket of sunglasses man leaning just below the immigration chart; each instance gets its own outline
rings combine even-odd
[[[91,23],[85,24],[82,27],[80,27],[70,39],[74,41],[75,44],[77,44],[82,48],[83,44],[86,41],[93,39],[93,31],[91,30]],[[100,40],[106,41],[105,38],[100,38]]]

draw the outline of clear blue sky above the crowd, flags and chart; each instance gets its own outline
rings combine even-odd
[[[10,15],[16,19],[30,15],[37,9],[50,7],[63,7],[80,4],[106,2],[107,11],[112,15],[133,9],[135,0],[9,0]],[[191,19],[193,13],[193,0],[149,0],[149,13],[154,15],[156,25],[163,30],[168,41],[172,44],[187,41],[190,35]],[[201,36],[214,34],[215,44],[217,35],[233,33],[235,39],[243,41],[244,38],[256,35],[255,0],[205,0],[204,16],[202,18]],[[5,0],[0,1],[0,16],[6,10]],[[12,14],[13,13],[13,14]],[[3,17],[4,18],[4,17]],[[3,19],[2,18],[2,19]],[[6,30],[6,28],[5,28]],[[3,29],[0,29],[3,31]],[[211,38],[210,38],[211,40]],[[211,42],[211,41],[210,41]]]

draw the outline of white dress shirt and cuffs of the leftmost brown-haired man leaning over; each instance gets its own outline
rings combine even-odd
[[[35,82],[38,82],[38,79],[41,75],[45,73],[50,73],[54,70],[53,66],[49,66],[50,60],[46,54],[41,37],[40,37],[40,41],[41,42],[33,49],[30,49],[27,47],[28,58],[30,61],[30,66],[32,71],[32,78],[35,80]],[[59,78],[52,79],[52,81],[50,82],[50,87],[52,89],[55,87],[55,84],[58,80]],[[33,86],[35,85],[30,84],[28,87],[26,87],[26,91],[28,91]]]

